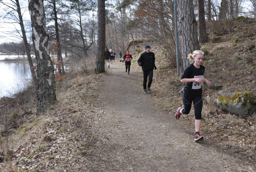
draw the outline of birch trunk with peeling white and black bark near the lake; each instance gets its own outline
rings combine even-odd
[[[56,101],[54,67],[49,54],[49,36],[46,30],[43,0],[28,0],[31,17],[32,40],[36,56],[37,107],[36,115],[45,113]]]

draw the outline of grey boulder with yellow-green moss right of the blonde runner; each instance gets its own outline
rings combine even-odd
[[[252,92],[237,92],[218,96],[216,103],[223,110],[237,116],[250,116],[256,111]]]

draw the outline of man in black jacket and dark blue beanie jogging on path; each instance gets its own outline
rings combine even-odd
[[[155,54],[150,52],[150,46],[145,46],[146,51],[141,54],[140,58],[138,59],[139,66],[142,67],[143,70],[143,89],[144,93],[151,93],[150,86],[153,81],[153,70],[156,70],[155,65]],[[148,81],[148,86],[147,85]]]

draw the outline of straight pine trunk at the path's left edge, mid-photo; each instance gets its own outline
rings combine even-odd
[[[95,63],[95,74],[105,72],[105,44],[106,44],[106,20],[105,20],[105,0],[98,0],[98,42],[97,56]]]

